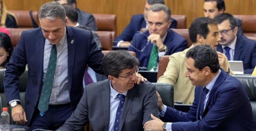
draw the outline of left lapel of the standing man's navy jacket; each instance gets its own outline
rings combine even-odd
[[[37,68],[37,83],[39,84],[39,92],[40,88],[42,87],[42,77],[43,77],[43,53],[44,53],[44,47],[45,47],[45,37],[43,36],[42,31],[40,31],[38,38],[36,39],[36,68]]]

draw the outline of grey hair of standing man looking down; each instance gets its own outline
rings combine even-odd
[[[48,2],[42,5],[38,13],[39,20],[55,20],[60,18],[63,23],[66,22],[66,12],[64,7],[58,2]]]

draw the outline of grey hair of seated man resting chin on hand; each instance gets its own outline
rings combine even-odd
[[[157,4],[154,4],[154,5],[151,5],[149,7],[149,10],[148,10],[148,12],[147,12],[145,17],[147,18],[147,16],[148,16],[150,11],[152,11],[152,12],[160,12],[162,10],[164,11],[164,20],[166,22],[168,22],[171,19],[171,10],[170,10],[170,8],[168,6],[166,6],[164,4],[161,4],[161,3],[157,3]]]

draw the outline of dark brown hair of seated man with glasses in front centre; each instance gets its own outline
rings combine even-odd
[[[106,76],[118,78],[124,69],[133,69],[138,64],[138,59],[127,50],[112,50],[104,56],[102,65]]]

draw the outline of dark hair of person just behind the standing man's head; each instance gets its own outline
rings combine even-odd
[[[65,8],[67,18],[69,18],[69,20],[71,20],[71,22],[77,22],[78,21],[77,10],[68,4],[63,4],[63,7]]]

